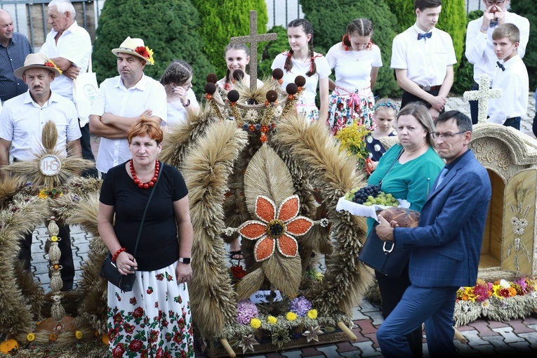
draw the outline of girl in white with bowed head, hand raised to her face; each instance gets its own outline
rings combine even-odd
[[[168,131],[187,120],[187,112],[199,108],[192,91],[192,67],[182,60],[173,60],[162,74],[160,83],[166,90]]]

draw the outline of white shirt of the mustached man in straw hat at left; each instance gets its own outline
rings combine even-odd
[[[0,138],[11,141],[9,153],[13,158],[32,160],[34,154],[41,152],[41,132],[47,121],[53,121],[58,130],[55,149],[67,157],[67,141],[81,137],[73,102],[52,92],[51,98],[39,107],[27,91],[4,103],[0,113]]]

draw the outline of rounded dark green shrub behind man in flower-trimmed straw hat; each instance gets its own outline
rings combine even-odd
[[[193,90],[201,96],[205,77],[214,67],[201,51],[203,42],[195,29],[201,21],[190,0],[107,0],[102,8],[93,46],[93,68],[98,81],[117,76],[117,48],[127,36],[139,37],[154,51],[154,66],[145,74],[159,80],[174,59],[192,65]]]

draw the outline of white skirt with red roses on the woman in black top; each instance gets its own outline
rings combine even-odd
[[[109,357],[194,357],[188,288],[175,267],[137,271],[131,292],[108,284]]]

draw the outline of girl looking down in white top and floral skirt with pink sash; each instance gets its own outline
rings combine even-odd
[[[343,41],[332,46],[326,54],[336,74],[331,82],[328,125],[334,135],[340,129],[358,121],[366,128],[375,128],[371,88],[375,86],[378,69],[383,65],[380,49],[373,44],[371,20],[359,18],[347,26]],[[336,114],[338,116],[336,117]]]

